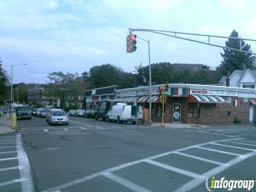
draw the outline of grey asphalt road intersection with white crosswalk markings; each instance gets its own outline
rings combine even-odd
[[[68,126],[38,117],[18,124],[0,135],[0,191],[207,191],[210,175],[256,180],[253,126],[168,129],[81,117]]]

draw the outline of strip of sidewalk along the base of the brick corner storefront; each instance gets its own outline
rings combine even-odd
[[[161,127],[161,123],[152,122],[151,126]],[[208,128],[208,127],[245,127],[245,126],[254,126],[254,123],[209,123],[209,124],[187,124],[187,123],[164,123],[165,127],[169,128]]]

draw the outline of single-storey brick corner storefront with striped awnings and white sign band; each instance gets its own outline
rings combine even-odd
[[[168,84],[164,107],[165,122],[223,123],[239,119],[254,122],[256,90],[239,87]],[[152,86],[152,120],[161,121],[162,103],[158,102],[159,85]],[[116,90],[115,103],[124,102],[149,108],[149,87]]]

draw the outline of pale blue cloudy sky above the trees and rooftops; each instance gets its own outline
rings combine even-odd
[[[148,44],[126,53],[128,28],[256,39],[256,1],[0,0],[0,57],[13,83],[47,83],[49,73],[78,73],[110,63],[133,72],[148,65]],[[150,40],[151,63],[220,65],[219,47],[134,31]],[[207,37],[179,35],[207,42]],[[225,46],[226,39],[210,38]],[[256,42],[246,41],[256,53]]]

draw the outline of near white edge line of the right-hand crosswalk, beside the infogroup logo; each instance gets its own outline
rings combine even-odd
[[[254,155],[256,155],[256,151],[246,154],[247,157],[251,157]],[[229,162],[227,162],[228,166],[220,165],[218,167],[213,168],[212,170],[205,172],[203,175],[205,177],[209,177],[209,175],[216,175],[216,174],[220,173],[221,171],[226,170],[228,167],[235,165],[243,160],[244,160],[244,158],[236,157],[234,159],[231,159]],[[193,179],[193,180],[189,181],[188,183],[186,183],[185,185],[174,190],[173,192],[189,191],[189,190],[199,186],[203,182],[205,182],[205,178]]]

